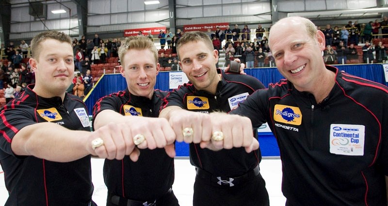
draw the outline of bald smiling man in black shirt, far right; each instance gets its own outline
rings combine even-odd
[[[287,79],[231,114],[250,118],[253,127],[268,122],[286,206],[386,205],[388,88],[324,65],[325,36],[306,18],[279,20],[269,44]]]

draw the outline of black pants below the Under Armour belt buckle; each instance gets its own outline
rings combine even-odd
[[[193,206],[269,206],[269,202],[265,181],[260,174],[233,187],[195,177]]]

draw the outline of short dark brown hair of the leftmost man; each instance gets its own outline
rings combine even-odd
[[[56,30],[43,31],[42,33],[34,36],[31,40],[31,53],[34,59],[39,58],[41,50],[40,44],[42,44],[42,42],[48,39],[57,40],[61,43],[68,43],[71,47],[73,47],[70,36],[65,34],[64,32]]]

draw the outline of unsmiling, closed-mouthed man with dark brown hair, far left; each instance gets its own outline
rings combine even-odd
[[[0,163],[9,197],[5,206],[94,206],[91,155],[137,160],[133,135],[155,127],[155,135],[174,136],[158,122],[136,118],[139,126],[110,124],[90,132],[85,104],[65,91],[72,82],[71,39],[45,31],[31,41],[35,85],[0,110]],[[148,136],[152,138],[152,135]],[[147,143],[139,145],[147,147]],[[154,146],[149,146],[154,147]]]

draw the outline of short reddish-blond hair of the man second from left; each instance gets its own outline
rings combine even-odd
[[[118,48],[118,57],[120,58],[121,65],[125,64],[124,55],[130,49],[149,49],[154,55],[155,64],[158,63],[158,50],[148,37],[139,35],[125,38],[124,43]]]

